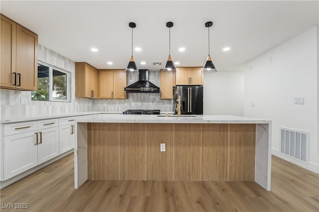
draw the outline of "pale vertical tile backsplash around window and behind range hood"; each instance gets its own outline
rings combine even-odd
[[[172,111],[171,100],[160,100],[160,94],[129,93],[127,100],[92,100],[75,98],[75,62],[52,50],[38,45],[38,60],[71,72],[71,102],[31,101],[30,91],[0,89],[1,119],[6,117],[42,116],[83,111],[119,111],[126,109],[160,109]],[[138,80],[138,75],[129,76],[129,85]],[[150,71],[149,80],[160,85],[160,72]],[[21,98],[27,99],[21,105]]]

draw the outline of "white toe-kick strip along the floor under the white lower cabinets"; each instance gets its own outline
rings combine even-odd
[[[42,169],[43,167],[45,167],[45,166],[47,166],[47,165],[49,165],[49,164],[51,164],[51,163],[63,158],[63,157],[65,157],[65,156],[67,156],[67,155],[69,155],[71,153],[74,153],[74,149],[71,149],[71,150],[69,150],[67,152],[64,152],[63,154],[61,154],[61,155],[59,155],[59,156],[57,156],[55,158],[52,158],[51,160],[48,160],[48,161],[46,161],[46,162],[44,162],[44,163],[42,163],[42,164],[40,164],[40,165],[38,165],[36,167],[33,167],[32,169],[29,169],[29,170],[27,170],[25,172],[22,172],[21,174],[18,174],[18,175],[14,176],[14,177],[12,177],[10,179],[7,179],[5,181],[1,181],[0,182],[0,189],[3,189],[4,187],[7,187],[8,185],[10,185],[10,184],[12,184],[14,182],[16,182],[18,180],[21,180],[22,178],[32,174],[33,172],[36,172],[37,170]]]

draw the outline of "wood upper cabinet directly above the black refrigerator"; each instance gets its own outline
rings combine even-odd
[[[175,85],[203,85],[200,67],[176,68]]]

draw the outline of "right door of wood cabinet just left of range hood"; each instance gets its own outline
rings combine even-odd
[[[126,99],[126,84],[125,70],[114,70],[113,99]]]

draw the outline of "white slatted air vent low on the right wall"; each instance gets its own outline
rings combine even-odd
[[[308,162],[309,132],[280,127],[280,152]]]

